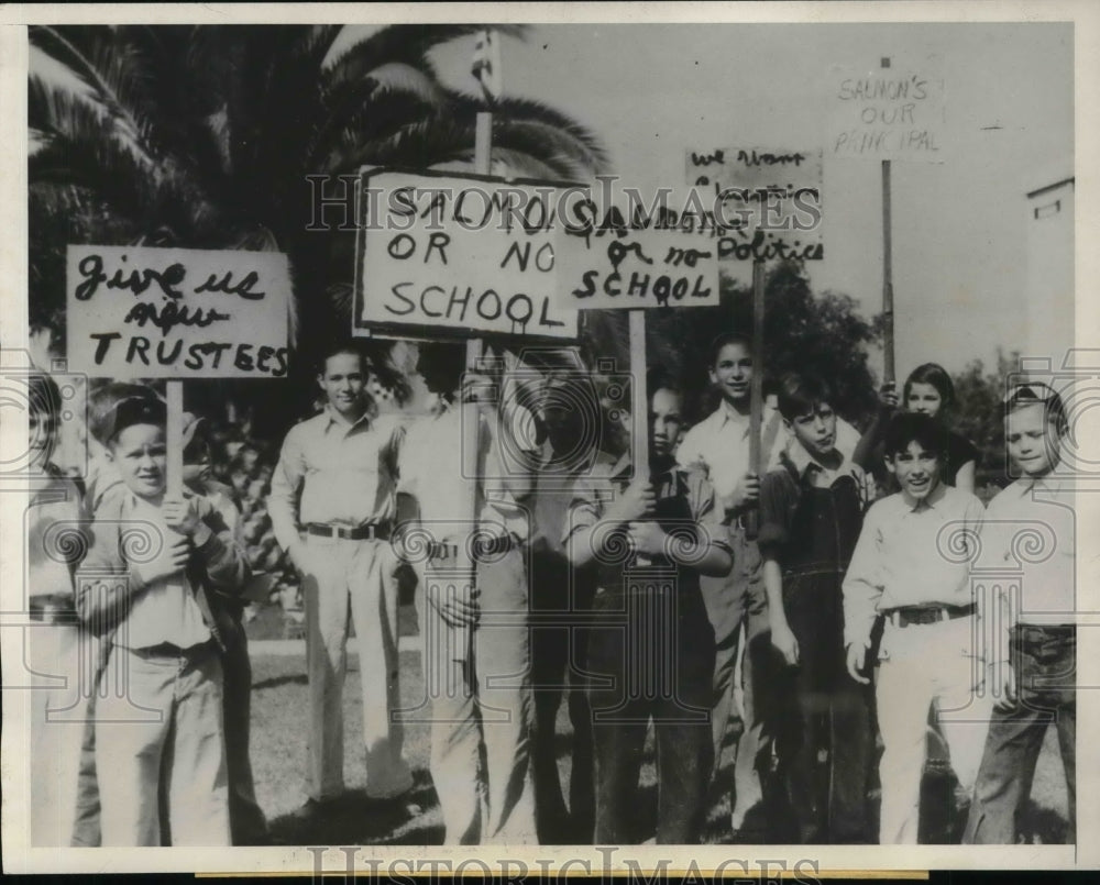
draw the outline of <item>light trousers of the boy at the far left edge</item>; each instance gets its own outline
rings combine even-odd
[[[31,671],[31,844],[68,847],[99,640],[75,624],[26,629]]]

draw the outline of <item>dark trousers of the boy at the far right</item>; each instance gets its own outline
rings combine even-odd
[[[1069,793],[1067,841],[1077,833],[1077,631],[1071,626],[1015,628],[1010,650],[1018,701],[993,710],[963,841],[1015,844],[1035,764],[1049,726],[1058,730]]]

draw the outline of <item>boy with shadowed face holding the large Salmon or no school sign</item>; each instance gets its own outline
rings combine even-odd
[[[447,844],[535,844],[524,502],[537,449],[530,412],[513,397],[498,403],[484,376],[466,373],[463,383],[464,366],[461,344],[420,345],[417,372],[439,402],[409,427],[399,460],[403,506],[415,499],[418,509],[407,536],[431,536],[416,563],[427,601],[421,660],[431,699],[431,777]],[[463,475],[463,402],[477,403],[473,476]],[[474,484],[475,516],[462,512],[466,483]],[[441,575],[452,586],[465,577],[460,544],[476,569],[470,598],[438,591],[447,586]],[[409,556],[413,545],[396,544]]]

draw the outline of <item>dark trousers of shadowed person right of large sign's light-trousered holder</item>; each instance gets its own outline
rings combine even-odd
[[[595,822],[592,713],[585,684],[587,631],[579,612],[592,607],[592,587],[571,574],[564,554],[531,557],[531,687],[535,692],[535,820],[539,843],[588,844]],[[557,720],[565,690],[573,728],[569,748],[569,808],[558,772]]]

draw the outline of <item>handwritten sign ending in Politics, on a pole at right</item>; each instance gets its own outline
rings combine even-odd
[[[688,184],[710,193],[726,229],[722,261],[821,261],[822,152],[721,147],[688,152]]]

